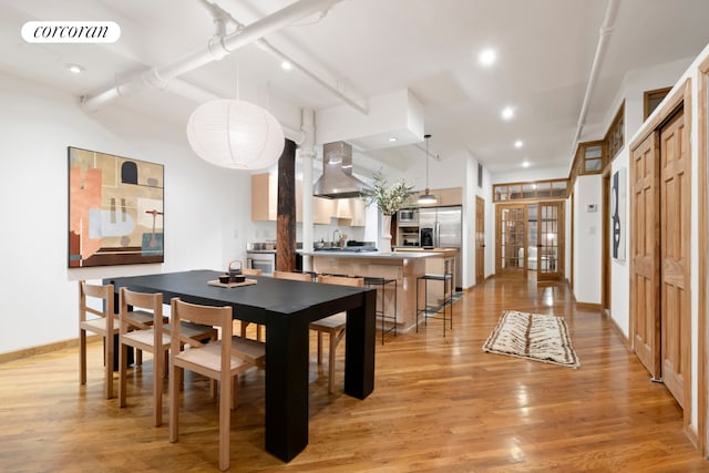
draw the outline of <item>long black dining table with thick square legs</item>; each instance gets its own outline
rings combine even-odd
[[[288,462],[308,444],[309,325],[347,312],[345,393],[366,399],[374,389],[376,289],[248,276],[224,287],[208,269],[104,278],[120,288],[162,292],[191,304],[230,306],[234,319],[266,327],[266,451]],[[117,301],[117,297],[116,297]]]

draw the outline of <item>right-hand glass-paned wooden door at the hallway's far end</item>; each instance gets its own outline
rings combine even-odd
[[[537,281],[558,280],[564,274],[564,203],[541,202],[537,212]]]

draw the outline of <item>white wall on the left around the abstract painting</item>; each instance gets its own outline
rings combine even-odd
[[[218,269],[245,256],[249,176],[202,162],[182,130],[117,106],[88,114],[73,96],[4,74],[0,103],[0,352],[76,338],[78,279]],[[68,146],[165,165],[164,264],[66,268]]]

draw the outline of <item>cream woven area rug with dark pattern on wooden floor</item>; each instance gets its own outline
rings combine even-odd
[[[580,367],[568,327],[556,316],[506,310],[483,350],[563,367]]]

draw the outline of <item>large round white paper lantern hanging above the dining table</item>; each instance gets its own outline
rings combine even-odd
[[[261,169],[284,152],[284,130],[267,110],[238,100],[199,105],[187,122],[187,140],[204,161],[233,169]]]

